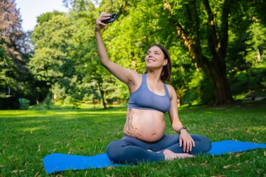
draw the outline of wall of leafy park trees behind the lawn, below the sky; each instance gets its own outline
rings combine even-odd
[[[1,2],[1,109],[126,106],[127,86],[100,64],[99,13],[118,13],[102,31],[111,60],[144,73],[160,43],[172,57],[179,105],[265,97],[265,1],[63,1],[67,13],[38,16],[23,31],[15,1]],[[255,97],[255,98],[254,98]]]

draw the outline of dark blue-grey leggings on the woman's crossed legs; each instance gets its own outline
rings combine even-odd
[[[207,137],[197,134],[190,134],[190,136],[195,141],[195,147],[192,148],[189,154],[204,154],[211,150],[211,141]],[[163,154],[165,149],[172,150],[174,153],[184,153],[183,146],[179,147],[179,134],[164,135],[162,139],[153,143],[124,135],[123,139],[111,142],[107,146],[106,153],[112,162],[134,164],[165,160]]]

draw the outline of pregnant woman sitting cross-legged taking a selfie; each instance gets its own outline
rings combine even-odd
[[[123,139],[107,146],[109,159],[116,163],[156,162],[194,157],[211,150],[211,141],[205,136],[188,134],[179,120],[174,87],[165,84],[171,77],[172,64],[168,51],[161,45],[148,50],[146,73],[119,66],[109,59],[101,30],[111,14],[100,15],[95,24],[99,59],[113,76],[127,84],[130,100]],[[165,134],[165,113],[169,113],[172,128],[179,134]]]

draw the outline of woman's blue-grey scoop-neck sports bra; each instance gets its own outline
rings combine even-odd
[[[127,107],[166,113],[171,106],[171,99],[167,90],[167,85],[164,83],[165,95],[161,96],[148,89],[146,78],[146,74],[143,74],[141,86],[135,92],[130,94],[130,100]]]

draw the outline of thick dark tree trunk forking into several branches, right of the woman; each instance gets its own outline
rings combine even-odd
[[[202,55],[202,45],[200,43],[200,24],[199,16],[197,15],[197,4],[196,1],[193,1],[193,7],[195,16],[192,17],[190,6],[187,6],[188,11],[188,21],[195,20],[195,25],[190,25],[190,31],[194,31],[194,37],[191,38],[185,29],[178,20],[173,18],[173,24],[176,25],[176,34],[181,38],[183,44],[186,46],[190,52],[190,57],[193,59],[193,62],[197,64],[197,67],[202,69],[205,74],[211,79],[211,82],[214,85],[214,92],[216,100],[214,104],[228,104],[233,101],[232,94],[230,92],[230,86],[228,83],[228,78],[226,77],[226,63],[225,56],[228,45],[228,15],[230,13],[230,0],[225,0],[223,4],[223,14],[221,17],[221,30],[216,27],[214,20],[214,14],[211,11],[208,0],[202,0],[205,10],[208,16],[208,41],[209,51],[211,56],[208,56],[211,59],[207,59],[206,56]],[[173,15],[173,10],[171,4],[167,3],[165,8],[169,10],[169,14]],[[192,22],[193,23],[193,22]],[[193,35],[193,34],[192,34]]]

